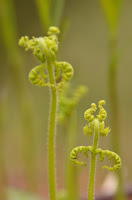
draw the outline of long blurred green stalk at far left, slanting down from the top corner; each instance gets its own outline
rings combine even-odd
[[[27,87],[23,84],[24,73],[20,53],[18,51],[16,44],[17,40],[17,26],[16,17],[14,11],[14,5],[12,0],[2,0],[1,1],[1,27],[3,41],[6,47],[6,51],[10,60],[10,75],[11,81],[13,82],[13,87],[15,89],[16,99],[19,103],[20,118],[22,120],[22,143],[23,143],[23,157],[25,164],[25,174],[28,189],[32,191],[37,190],[37,182],[35,177],[35,141],[33,139],[33,121],[32,119],[32,108],[31,101],[29,97],[29,92]],[[26,99],[26,102],[25,102]],[[31,142],[32,141],[32,142]]]

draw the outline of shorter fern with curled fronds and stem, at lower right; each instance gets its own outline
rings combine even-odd
[[[96,156],[99,155],[99,161],[103,161],[105,155],[108,156],[109,160],[114,159],[114,166],[108,167],[103,166],[110,171],[117,171],[121,167],[121,159],[120,157],[109,150],[102,150],[101,148],[97,149],[98,146],[98,137],[100,136],[107,136],[110,132],[110,128],[105,128],[104,120],[107,117],[107,113],[103,108],[105,101],[99,101],[99,114],[96,117],[93,113],[96,111],[97,107],[96,104],[91,104],[91,108],[86,110],[84,113],[85,119],[88,121],[88,124],[83,128],[84,134],[87,136],[91,136],[94,134],[94,141],[92,146],[80,146],[76,147],[71,151],[70,158],[71,161],[76,165],[84,165],[86,163],[83,161],[78,160],[78,153],[83,152],[84,155],[88,156],[88,151],[91,153],[91,169],[90,169],[90,180],[89,180],[89,192],[88,192],[88,199],[93,200],[93,193],[94,193],[94,179],[95,179],[95,167],[96,167]]]

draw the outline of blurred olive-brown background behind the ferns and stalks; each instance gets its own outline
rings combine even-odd
[[[13,1],[15,7],[15,20],[17,24],[17,40],[23,35],[43,36],[41,21],[38,10],[33,0]],[[119,53],[120,61],[118,66],[117,87],[120,108],[120,141],[122,153],[122,168],[125,184],[132,180],[132,1],[123,2],[120,31],[119,31]],[[97,103],[100,99],[106,100],[108,118],[106,125],[111,127],[110,101],[108,98],[108,29],[98,0],[67,0],[63,11],[63,19],[68,20],[68,28],[62,40],[58,60],[68,61],[74,68],[72,83],[83,84],[89,88],[87,95],[81,100],[77,108],[77,144],[89,145],[92,139],[87,139],[83,134],[84,111],[90,107],[92,102]],[[11,24],[10,24],[11,25]],[[52,24],[51,24],[52,25]],[[1,31],[0,31],[1,32]],[[1,33],[0,33],[1,34]],[[47,170],[47,130],[49,118],[49,91],[47,88],[40,88],[31,85],[28,81],[28,72],[37,65],[36,59],[30,52],[25,52],[18,47],[22,60],[22,71],[30,94],[32,105],[33,125],[36,137],[37,151],[37,174],[39,191],[47,196],[48,193],[48,170]],[[11,73],[10,55],[4,45],[4,39],[0,37],[0,95],[5,105],[5,160],[8,172],[8,184],[20,188],[26,188],[24,179],[24,163],[22,159],[22,135],[21,135],[21,113],[17,102],[17,92],[13,86]],[[14,79],[14,78],[13,78]],[[16,74],[17,79],[17,74]],[[19,91],[21,92],[21,91]],[[26,96],[23,96],[26,103]],[[28,122],[27,122],[28,123]],[[100,138],[100,146],[103,149],[111,150],[111,134],[107,138]],[[57,125],[56,131],[56,172],[58,188],[64,187],[64,160],[66,155],[65,136],[62,127]],[[2,150],[3,151],[3,150]],[[102,170],[100,163],[97,166],[96,186],[100,188],[107,175]],[[80,190],[83,194],[87,191],[89,166],[80,169]]]

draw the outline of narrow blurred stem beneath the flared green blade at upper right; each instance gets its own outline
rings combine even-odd
[[[111,101],[111,113],[112,113],[112,129],[113,134],[111,136],[111,144],[114,151],[120,153],[120,128],[119,128],[119,101],[117,92],[117,67],[118,67],[118,40],[116,34],[110,34],[109,39],[109,72],[108,72],[108,88]],[[117,200],[124,200],[125,195],[123,192],[123,178],[122,170],[118,171],[118,189],[116,194]]]

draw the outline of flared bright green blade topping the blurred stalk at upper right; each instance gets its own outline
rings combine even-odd
[[[116,32],[123,0],[100,0],[111,32]]]

